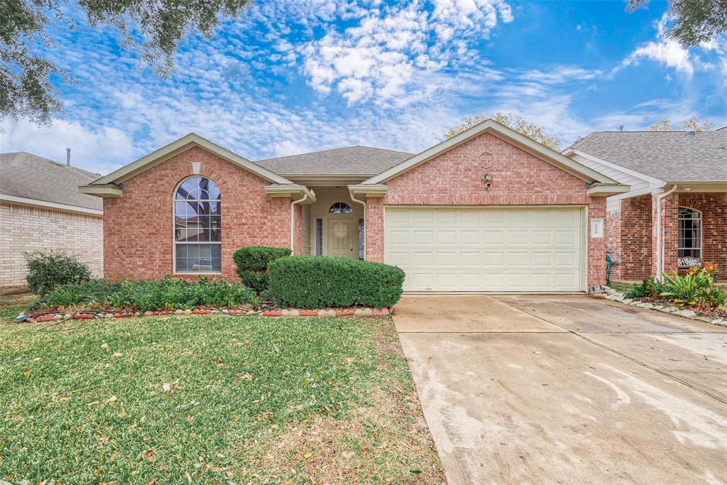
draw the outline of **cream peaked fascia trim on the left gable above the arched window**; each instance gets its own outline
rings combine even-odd
[[[238,167],[249,170],[265,180],[268,180],[268,182],[291,183],[291,181],[285,177],[281,177],[280,175],[270,172],[270,170],[260,167],[260,165],[239,156],[237,153],[229,151],[227,148],[222,148],[220,145],[217,145],[217,143],[212,143],[196,133],[190,133],[189,135],[181,137],[179,140],[169,143],[169,145],[164,145],[158,150],[155,150],[146,156],[142,156],[142,158],[137,161],[132,161],[132,163],[124,165],[124,167],[94,180],[90,185],[122,183],[124,180],[134,177],[134,175],[137,175],[146,169],[150,169],[156,164],[160,164],[162,161],[165,161],[166,159],[169,159],[172,156],[177,155],[177,153],[181,153],[194,145],[204,148],[206,151],[212,152],[215,155],[220,156],[220,158],[236,164]]]

